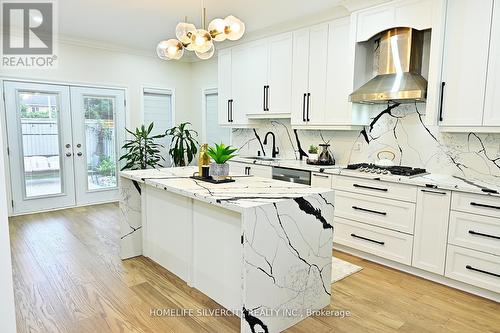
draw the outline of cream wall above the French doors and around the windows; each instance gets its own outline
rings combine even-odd
[[[177,121],[193,119],[190,70],[190,63],[160,60],[154,50],[141,56],[61,43],[57,69],[9,69],[0,76],[127,88],[127,127],[136,127],[142,123],[142,86],[174,89]]]

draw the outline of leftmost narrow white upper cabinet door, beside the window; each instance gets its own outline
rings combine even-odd
[[[222,49],[218,57],[219,125],[230,125],[231,103],[231,49]]]

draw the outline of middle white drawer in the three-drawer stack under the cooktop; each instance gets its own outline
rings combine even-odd
[[[335,216],[413,234],[415,204],[335,191]]]

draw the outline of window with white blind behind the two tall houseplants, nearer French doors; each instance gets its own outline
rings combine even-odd
[[[154,122],[153,135],[165,133],[169,128],[173,127],[173,107],[172,107],[172,91],[167,89],[149,89],[144,88],[143,91],[144,104],[144,125],[148,126]],[[170,142],[168,138],[160,142],[165,146],[162,151],[162,156],[165,157],[165,166],[170,165],[168,158],[168,146]]]

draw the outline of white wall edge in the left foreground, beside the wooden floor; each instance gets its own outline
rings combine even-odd
[[[0,128],[2,119],[0,118]],[[0,136],[0,147],[3,147]],[[0,149],[0,177],[5,173],[4,152]],[[0,182],[4,184],[4,182]],[[7,220],[7,193],[5,186],[0,186],[0,332],[14,333],[16,318],[14,314],[14,292],[12,285],[12,264],[10,259],[9,224]]]

